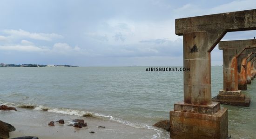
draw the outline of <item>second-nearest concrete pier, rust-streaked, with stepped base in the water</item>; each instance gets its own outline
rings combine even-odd
[[[255,48],[256,40],[254,39],[219,42],[219,49],[223,50],[223,90],[220,90],[219,94],[212,101],[218,101],[221,104],[227,105],[249,107],[250,98],[242,94],[241,90],[238,90],[238,80],[243,81],[245,79],[246,75],[244,74],[246,74],[246,71],[243,66],[241,67],[241,59],[238,61],[237,57],[243,51],[254,51]],[[243,58],[242,56],[241,58]],[[244,64],[244,61],[242,60],[242,64]],[[240,73],[241,71],[242,73]],[[238,79],[238,77],[241,79]],[[245,81],[242,82],[243,87],[247,85]]]

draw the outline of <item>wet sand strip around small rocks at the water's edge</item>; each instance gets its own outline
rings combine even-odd
[[[50,121],[63,119],[64,125],[48,126]],[[74,119],[83,119],[87,127],[81,129],[73,126]],[[17,108],[17,111],[0,111],[0,120],[13,125],[16,130],[10,138],[20,136],[37,136],[39,139],[168,139],[169,133],[155,127],[136,128],[116,121],[92,117],[57,114],[34,109]],[[105,126],[99,128],[98,126]],[[89,133],[89,132],[95,133]]]

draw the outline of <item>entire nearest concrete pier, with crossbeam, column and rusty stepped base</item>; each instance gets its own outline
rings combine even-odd
[[[256,9],[175,19],[183,35],[184,101],[170,111],[172,139],[227,139],[228,111],[211,101],[210,52],[226,32],[256,30]]]

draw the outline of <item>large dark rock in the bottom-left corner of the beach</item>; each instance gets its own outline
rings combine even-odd
[[[16,129],[12,125],[0,120],[0,139],[8,139],[9,132],[12,132],[15,130]]]

